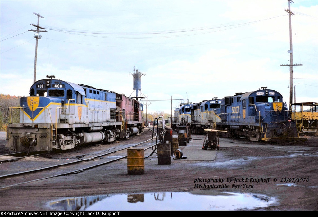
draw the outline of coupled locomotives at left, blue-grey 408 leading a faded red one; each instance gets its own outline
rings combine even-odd
[[[19,123],[8,124],[10,151],[49,152],[113,142],[142,132],[143,105],[122,94],[46,76],[20,98]],[[10,114],[9,114],[10,115]],[[11,115],[12,117],[12,115]]]

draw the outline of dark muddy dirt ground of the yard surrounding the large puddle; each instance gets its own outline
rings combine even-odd
[[[131,137],[129,142],[136,143],[150,136],[151,132],[145,130],[142,135]],[[188,146],[197,146],[200,149],[201,138],[193,135]],[[0,142],[2,154],[5,152],[4,144],[2,136]],[[185,151],[186,147],[180,146],[180,148],[185,148],[184,156],[191,156],[191,153]],[[150,152],[151,149],[146,151],[145,156]],[[262,143],[251,145],[241,140],[221,138],[220,149],[213,152],[216,152],[216,157],[212,161],[191,160],[188,157],[188,159],[172,159],[171,165],[158,165],[154,154],[150,157],[151,160],[145,161],[143,175],[128,175],[127,159],[122,159],[78,174],[0,189],[0,210],[54,210],[47,206],[48,202],[62,198],[153,192],[190,192],[203,195],[218,195],[224,192],[257,193],[274,197],[277,203],[255,210],[318,210],[317,136],[308,137],[308,141],[301,146]],[[232,185],[226,181],[229,179],[269,178],[270,181],[253,182],[252,187],[249,188],[195,186],[195,179],[212,178],[224,179],[223,183],[227,185]],[[283,185],[290,183],[293,183],[292,186]],[[107,210],[107,207],[105,209]]]

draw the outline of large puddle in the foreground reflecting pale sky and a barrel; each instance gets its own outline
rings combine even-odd
[[[260,194],[224,193],[211,196],[187,192],[164,192],[69,198],[51,202],[49,206],[64,211],[249,210],[267,207],[276,202],[275,198]]]

